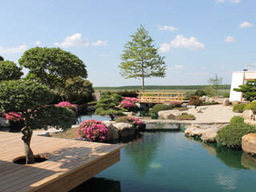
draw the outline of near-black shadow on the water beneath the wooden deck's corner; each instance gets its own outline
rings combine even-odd
[[[112,179],[106,178],[90,178],[88,181],[82,183],[82,185],[77,186],[70,192],[121,192],[121,184],[119,181],[114,181]]]

